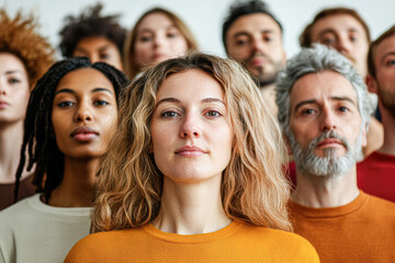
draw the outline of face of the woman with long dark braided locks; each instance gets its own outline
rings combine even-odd
[[[83,68],[59,81],[52,123],[59,150],[69,158],[99,158],[108,150],[117,117],[116,96],[100,71]]]

